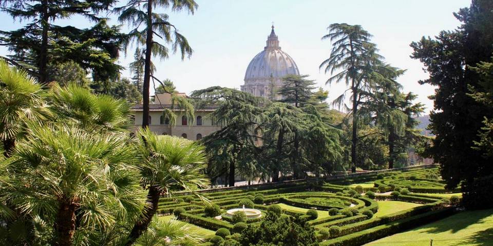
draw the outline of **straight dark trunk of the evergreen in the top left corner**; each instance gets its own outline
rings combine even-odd
[[[46,67],[48,64],[48,29],[49,29],[49,16],[48,16],[48,3],[46,0],[41,2],[43,12],[41,13],[41,46],[40,46],[40,57],[38,60],[38,69],[40,74],[40,84],[48,84],[48,76],[46,72]]]

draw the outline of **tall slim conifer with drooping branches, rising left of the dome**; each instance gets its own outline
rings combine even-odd
[[[141,10],[141,5],[146,9],[145,11]],[[169,56],[169,49],[158,43],[154,37],[160,37],[165,44],[172,44],[173,52],[180,49],[181,59],[184,59],[185,55],[191,56],[193,52],[186,38],[173,24],[168,22],[168,15],[154,12],[157,7],[167,8],[169,6],[174,11],[187,10],[192,14],[198,7],[194,0],[129,0],[125,6],[115,9],[116,12],[121,13],[118,18],[120,22],[136,27],[129,33],[130,40],[137,40],[139,44],[145,46],[142,128],[149,126],[150,79],[160,81],[153,76],[151,58],[158,56],[163,59]],[[138,30],[141,25],[144,29]]]

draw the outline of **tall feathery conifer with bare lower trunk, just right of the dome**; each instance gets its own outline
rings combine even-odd
[[[325,67],[325,73],[331,73],[331,77],[326,84],[339,83],[345,81],[349,88],[338,98],[334,104],[339,107],[344,104],[347,91],[351,92],[352,107],[346,106],[346,109],[352,113],[352,144],[351,144],[351,171],[356,172],[356,145],[357,145],[357,124],[358,124],[358,106],[368,90],[369,81],[364,79],[363,70],[368,69],[366,66],[368,57],[379,58],[374,51],[375,45],[370,43],[371,34],[359,25],[331,24],[328,28],[329,34],[322,37],[330,39],[332,50],[330,57],[320,64],[320,69]],[[334,73],[337,72],[335,75]]]

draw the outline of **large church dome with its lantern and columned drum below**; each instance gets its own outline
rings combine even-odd
[[[272,26],[266,47],[248,65],[241,91],[271,100],[279,99],[276,90],[282,85],[282,77],[288,74],[299,75],[298,66],[288,53],[281,50]]]

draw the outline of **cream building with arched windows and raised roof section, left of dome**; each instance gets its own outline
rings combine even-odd
[[[186,96],[184,93],[180,93],[179,95]],[[175,126],[172,126],[169,124],[169,119],[163,116],[164,109],[170,109],[171,107],[170,94],[157,94],[155,96],[154,103],[149,105],[149,129],[151,131],[159,135],[172,135],[189,140],[199,140],[220,129],[210,118],[206,117],[207,114],[214,111],[214,108],[196,109],[193,122],[187,118],[183,110],[174,109],[176,122]],[[134,113],[135,129],[142,126],[142,110],[142,104],[135,105],[131,108],[131,111]]]

